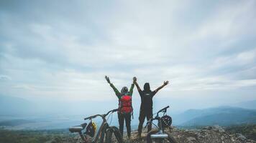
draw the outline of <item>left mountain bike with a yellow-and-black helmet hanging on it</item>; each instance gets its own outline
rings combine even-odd
[[[123,140],[123,137],[122,137],[119,129],[117,127],[114,127],[114,126],[110,127],[108,122],[107,122],[107,119],[106,119],[106,117],[110,113],[113,114],[114,112],[117,112],[117,111],[119,111],[119,109],[113,109],[113,110],[107,112],[106,114],[96,114],[96,115],[93,115],[91,117],[86,117],[84,119],[84,120],[90,120],[91,122],[92,122],[92,119],[96,118],[96,117],[101,117],[103,119],[97,134],[95,135],[95,132],[93,132],[93,134],[91,134],[91,138],[92,138],[91,140],[88,137],[88,132],[87,132],[88,125],[87,125],[87,123],[83,123],[79,126],[70,127],[69,131],[72,132],[72,133],[73,132],[78,133],[84,143],[88,143],[88,142],[94,143],[94,142],[97,142],[98,139],[99,139],[100,143],[103,143],[104,142],[104,137],[106,137],[105,138],[106,143],[111,143],[111,137],[112,137],[113,133],[114,133],[114,136],[116,137],[117,142],[123,143],[124,140]],[[86,128],[86,132],[83,132],[83,129],[85,129],[85,128]]]

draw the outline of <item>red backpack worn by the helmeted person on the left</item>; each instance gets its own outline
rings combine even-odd
[[[119,111],[122,114],[132,113],[132,96],[123,95],[121,99],[119,99]]]

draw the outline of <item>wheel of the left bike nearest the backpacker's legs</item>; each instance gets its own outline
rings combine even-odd
[[[112,136],[114,136],[119,143],[123,143],[124,139],[122,137],[122,134],[120,133],[119,129],[117,127],[109,127],[109,129],[106,130],[106,143],[112,142]]]

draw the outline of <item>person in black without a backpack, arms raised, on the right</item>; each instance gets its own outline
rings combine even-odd
[[[153,101],[152,98],[154,97],[154,95],[163,87],[165,87],[165,85],[167,85],[169,82],[163,82],[163,85],[158,87],[157,89],[155,89],[154,91],[150,90],[150,84],[149,83],[145,83],[144,84],[144,90],[140,89],[139,84],[137,84],[137,78],[134,77],[134,84],[136,85],[138,92],[140,94],[140,98],[141,98],[141,104],[140,104],[140,123],[139,123],[139,127],[138,127],[138,137],[141,137],[142,134],[142,126],[143,123],[145,121],[145,117],[147,117],[147,120],[149,120],[150,118],[152,118],[153,116]],[[149,126],[147,126],[147,132],[150,132],[151,130],[151,124]]]

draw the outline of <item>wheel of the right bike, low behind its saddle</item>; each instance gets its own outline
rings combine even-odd
[[[174,137],[172,135],[170,135],[169,133],[166,133],[165,134],[168,134],[168,138],[166,139],[151,139],[151,134],[157,134],[157,132],[159,132],[159,130],[152,130],[150,131],[149,133],[147,133],[147,143],[152,143],[152,142],[169,142],[169,143],[178,143]]]

